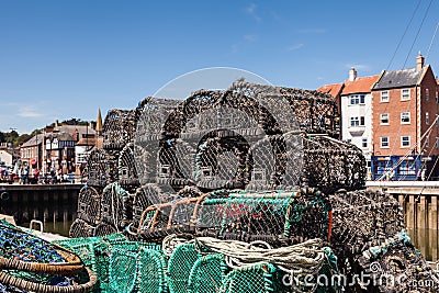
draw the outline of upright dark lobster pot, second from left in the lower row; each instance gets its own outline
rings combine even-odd
[[[117,183],[106,185],[102,193],[101,218],[119,230],[127,224],[126,202],[128,193]]]

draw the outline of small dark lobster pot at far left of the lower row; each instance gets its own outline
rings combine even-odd
[[[85,185],[78,196],[78,218],[91,225],[98,225],[101,219],[102,196],[97,189]]]

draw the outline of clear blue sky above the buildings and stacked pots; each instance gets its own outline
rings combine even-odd
[[[209,67],[305,89],[340,82],[352,66],[376,75],[418,3],[389,69],[403,68],[408,54],[406,68],[419,50],[427,55],[439,1],[0,0],[0,131],[133,109]],[[437,75],[438,61],[436,40],[427,63]]]

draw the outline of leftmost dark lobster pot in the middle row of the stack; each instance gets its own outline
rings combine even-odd
[[[116,166],[114,156],[102,148],[94,148],[87,160],[87,184],[104,188],[116,181]]]

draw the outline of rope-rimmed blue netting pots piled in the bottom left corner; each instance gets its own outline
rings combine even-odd
[[[83,270],[70,250],[0,221],[0,292],[90,292],[94,274]]]

